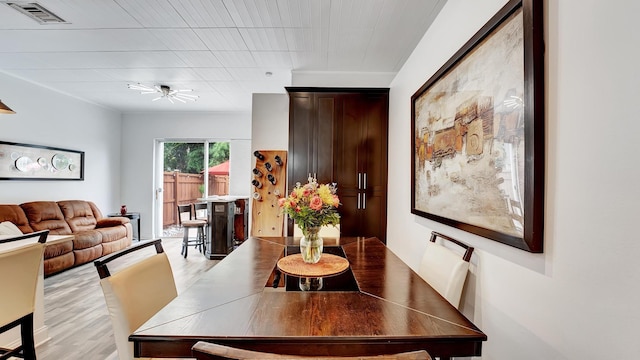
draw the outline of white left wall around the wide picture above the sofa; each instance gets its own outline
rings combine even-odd
[[[0,72],[0,140],[85,152],[84,181],[0,181],[0,203],[91,200],[103,214],[120,202],[119,112],[98,107]]]

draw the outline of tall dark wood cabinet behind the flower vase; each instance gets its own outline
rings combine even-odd
[[[341,235],[385,241],[389,90],[287,91],[289,189],[309,175],[320,183],[337,183]]]

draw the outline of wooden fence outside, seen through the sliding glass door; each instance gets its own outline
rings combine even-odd
[[[164,173],[162,227],[178,224],[178,205],[198,202],[204,175],[178,171]],[[209,176],[209,195],[228,195],[229,175]]]

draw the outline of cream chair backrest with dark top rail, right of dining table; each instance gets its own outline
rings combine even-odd
[[[464,255],[445,247],[444,244],[436,243],[438,237],[464,248]],[[473,247],[434,231],[427,242],[418,275],[457,308],[460,305],[472,254]]]

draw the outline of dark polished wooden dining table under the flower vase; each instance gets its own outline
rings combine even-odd
[[[190,357],[198,341],[295,355],[481,355],[487,336],[377,238],[325,239],[349,270],[321,291],[274,287],[298,241],[247,239],[129,336],[135,356]]]

